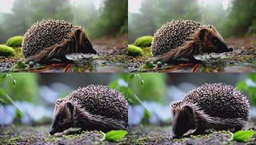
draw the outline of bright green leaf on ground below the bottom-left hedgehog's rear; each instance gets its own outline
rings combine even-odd
[[[127,134],[127,131],[124,130],[111,130],[105,134],[104,139],[110,142],[117,142]]]

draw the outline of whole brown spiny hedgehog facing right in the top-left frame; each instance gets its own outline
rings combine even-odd
[[[51,59],[68,61],[70,53],[92,53],[89,37],[82,27],[62,20],[42,20],[24,34],[22,53],[26,62],[49,62]]]

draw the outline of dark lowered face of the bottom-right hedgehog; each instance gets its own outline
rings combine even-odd
[[[173,138],[178,138],[192,129],[194,123],[193,110],[189,106],[183,106],[173,111]]]

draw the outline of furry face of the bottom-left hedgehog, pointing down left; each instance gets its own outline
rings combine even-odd
[[[73,126],[74,105],[71,102],[56,102],[50,135],[63,132]]]

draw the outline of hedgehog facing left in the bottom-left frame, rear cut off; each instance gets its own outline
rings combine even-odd
[[[102,85],[78,88],[56,100],[50,135],[75,127],[82,130],[126,130],[128,103],[122,94]]]

